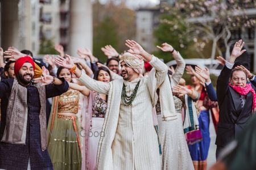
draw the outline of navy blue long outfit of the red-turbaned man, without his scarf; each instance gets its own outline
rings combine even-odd
[[[46,97],[59,96],[69,88],[68,83],[64,80],[62,84],[56,86],[48,84],[46,86]],[[1,128],[0,139],[6,125],[6,109],[11,94],[11,87],[14,79],[5,79],[0,82],[1,98]],[[27,169],[28,159],[30,159],[31,169],[52,169],[51,159],[48,151],[41,150],[40,142],[40,99],[39,92],[35,86],[29,85],[27,88],[27,134],[26,145],[14,145],[0,142],[0,169]]]

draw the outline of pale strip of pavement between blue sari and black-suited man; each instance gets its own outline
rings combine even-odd
[[[212,117],[210,116],[210,148],[209,148],[208,159],[207,159],[207,164],[208,164],[207,169],[209,169],[209,167],[216,162],[215,140],[216,140],[216,133],[213,127]]]

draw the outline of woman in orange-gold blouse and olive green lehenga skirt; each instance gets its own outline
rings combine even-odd
[[[71,82],[71,72],[59,67],[57,77]],[[54,97],[48,124],[48,152],[54,169],[81,169],[81,144],[76,113],[79,91],[69,89]]]

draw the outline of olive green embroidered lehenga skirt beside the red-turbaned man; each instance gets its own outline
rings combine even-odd
[[[75,117],[56,118],[48,143],[53,169],[81,169],[79,131]]]

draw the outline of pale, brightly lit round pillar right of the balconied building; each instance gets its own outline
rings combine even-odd
[[[70,1],[68,53],[76,56],[77,48],[92,50],[92,3],[90,0]]]

